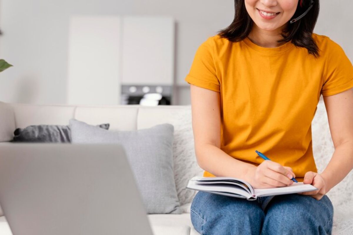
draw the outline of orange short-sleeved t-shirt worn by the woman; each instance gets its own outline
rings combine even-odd
[[[311,122],[320,95],[353,87],[353,66],[329,37],[312,36],[318,58],[291,42],[264,48],[215,35],[201,44],[185,81],[220,92],[221,150],[255,166],[264,161],[258,150],[292,167],[298,181],[317,172]]]

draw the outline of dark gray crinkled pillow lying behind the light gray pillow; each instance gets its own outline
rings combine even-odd
[[[97,125],[109,129],[109,123]],[[31,125],[17,128],[11,142],[70,143],[70,125]]]

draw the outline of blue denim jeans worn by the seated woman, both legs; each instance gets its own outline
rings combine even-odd
[[[191,222],[200,234],[331,234],[333,205],[301,194],[259,197],[248,201],[198,191],[191,204]]]

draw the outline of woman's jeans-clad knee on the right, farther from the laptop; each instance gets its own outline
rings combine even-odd
[[[277,196],[268,206],[262,234],[330,234],[333,206],[325,195],[321,200],[300,194]]]

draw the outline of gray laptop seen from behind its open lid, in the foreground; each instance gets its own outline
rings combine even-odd
[[[118,144],[0,144],[0,204],[14,235],[152,235]]]

